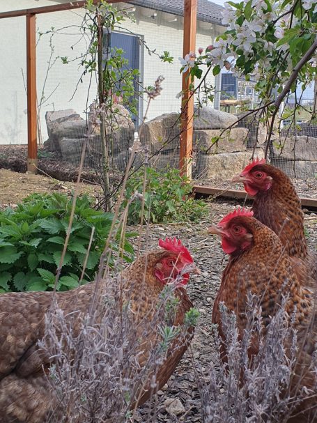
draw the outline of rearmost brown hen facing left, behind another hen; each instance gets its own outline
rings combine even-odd
[[[290,178],[265,159],[255,159],[232,181],[242,182],[247,193],[254,196],[254,217],[277,233],[300,281],[315,286],[317,255],[307,248],[304,213]]]

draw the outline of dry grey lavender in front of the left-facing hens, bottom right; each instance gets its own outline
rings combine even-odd
[[[208,381],[201,385],[203,423],[287,422],[304,399],[304,388],[292,397],[291,379],[297,362],[297,334],[293,329],[295,314],[285,311],[287,299],[265,328],[261,307],[254,295],[247,297],[247,324],[242,337],[236,316],[224,304],[222,333],[212,327],[217,351],[210,364]],[[258,341],[258,354],[250,358],[249,348]],[[224,358],[225,356],[225,358]]]

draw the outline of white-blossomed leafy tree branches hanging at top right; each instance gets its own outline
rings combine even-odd
[[[304,90],[317,77],[317,2],[311,0],[248,0],[224,3],[227,30],[213,45],[180,58],[188,77],[201,78],[225,67],[256,81],[258,109],[274,118],[281,102],[297,86]],[[203,84],[196,90],[203,91]],[[195,91],[194,83],[190,86]],[[313,112],[314,117],[314,112]],[[271,126],[273,128],[273,126]]]

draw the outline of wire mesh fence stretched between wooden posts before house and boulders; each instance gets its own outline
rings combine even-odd
[[[142,126],[141,144],[148,150],[150,166],[159,170],[178,168],[182,89],[178,57],[183,56],[183,12],[180,7],[172,13],[170,6],[158,2],[151,7],[148,3],[146,7],[140,6],[137,1],[117,3],[116,10],[123,10],[124,21],[117,22],[111,31],[105,26],[103,55],[104,59],[112,60],[109,72],[115,72],[118,79],[104,93],[110,105],[105,109],[107,152],[100,136],[100,121],[96,120],[100,114],[100,110],[96,111],[100,100],[98,75],[87,65],[91,18],[85,9],[37,16],[38,141],[44,145],[39,151],[40,160],[51,160],[51,167],[68,169],[70,174],[69,169],[78,167],[88,140],[84,158],[86,178],[102,174],[106,154],[111,181],[118,181],[130,158],[134,132]],[[212,45],[223,30],[215,16],[200,18],[197,47]],[[26,144],[24,17],[1,20],[0,33],[8,58],[1,63],[1,72],[6,77],[1,83],[0,144]],[[173,63],[162,61],[167,50]],[[118,54],[121,62],[115,69]],[[137,72],[129,73],[134,69]],[[153,86],[159,75],[164,77],[162,93],[148,105],[146,89]],[[259,112],[252,115],[247,112],[259,102],[255,82],[227,71],[217,77],[211,72],[209,75],[204,86],[214,87],[214,100],[206,100],[203,90],[195,94],[194,180],[204,185],[232,187],[229,181],[233,174],[245,167],[252,155],[263,157],[267,149],[272,164],[295,180],[301,194],[317,197],[317,125],[311,121],[314,86],[298,88],[288,97],[268,146],[270,122],[265,123]],[[133,93],[123,98],[120,93],[128,79]],[[228,127],[230,130],[226,130]],[[144,159],[144,152],[138,153],[133,168],[140,167]]]

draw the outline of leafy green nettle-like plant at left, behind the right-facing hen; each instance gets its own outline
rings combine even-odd
[[[91,200],[79,197],[72,232],[57,289],[78,286],[91,230],[95,233],[84,275],[84,283],[94,279],[100,255],[109,235],[113,215],[91,208]],[[0,292],[51,291],[65,241],[72,199],[64,194],[33,194],[15,210],[0,211]],[[127,233],[129,238],[132,234]],[[118,242],[111,245],[118,251]],[[131,261],[133,249],[125,243],[124,256]],[[110,263],[111,264],[111,263]]]

